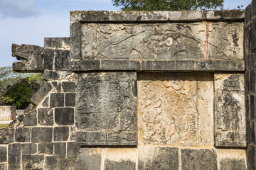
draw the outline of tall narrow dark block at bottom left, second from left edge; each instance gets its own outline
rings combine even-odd
[[[21,145],[8,145],[8,164],[20,164],[21,162]]]

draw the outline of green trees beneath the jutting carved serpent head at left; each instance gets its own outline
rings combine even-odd
[[[41,74],[17,73],[11,66],[0,67],[0,105],[24,109],[43,84]]]

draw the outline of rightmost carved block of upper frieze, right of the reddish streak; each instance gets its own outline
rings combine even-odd
[[[209,58],[243,60],[243,23],[210,23]]]

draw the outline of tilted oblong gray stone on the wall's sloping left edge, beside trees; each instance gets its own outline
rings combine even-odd
[[[36,91],[36,94],[31,97],[31,102],[38,105],[52,89],[53,86],[49,82],[46,82],[46,84],[43,84],[43,86]]]

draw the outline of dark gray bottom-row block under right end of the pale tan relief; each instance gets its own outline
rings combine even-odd
[[[181,169],[217,170],[217,155],[213,149],[181,149]]]

